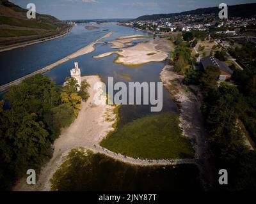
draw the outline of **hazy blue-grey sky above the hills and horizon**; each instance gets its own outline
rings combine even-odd
[[[36,12],[61,20],[95,18],[137,18],[156,13],[177,13],[218,6],[256,3],[254,0],[10,0],[22,8],[36,5]]]

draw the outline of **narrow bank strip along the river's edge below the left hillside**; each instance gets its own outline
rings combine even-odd
[[[69,27],[67,30],[65,30],[64,32],[61,32],[59,34],[54,34],[52,36],[47,36],[47,37],[39,38],[39,39],[36,39],[36,40],[28,40],[28,41],[25,41],[25,42],[22,42],[22,43],[15,43],[13,45],[7,45],[7,46],[4,46],[4,47],[0,47],[0,52],[13,50],[13,49],[16,49],[16,48],[21,48],[21,47],[27,47],[29,45],[34,45],[34,44],[37,44],[37,43],[44,43],[45,41],[62,38],[63,36],[68,34],[71,31],[71,29],[72,29],[72,27]]]

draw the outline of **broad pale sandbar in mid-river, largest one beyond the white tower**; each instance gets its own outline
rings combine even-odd
[[[164,45],[163,45],[164,44]],[[94,58],[107,57],[112,54],[118,54],[115,62],[125,66],[136,66],[148,62],[161,62],[168,58],[170,43],[168,41],[150,40],[148,42],[138,43],[133,47],[122,48],[120,51],[107,52],[94,56]]]

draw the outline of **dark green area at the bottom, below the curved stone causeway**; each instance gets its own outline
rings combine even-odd
[[[198,168],[135,166],[73,149],[51,179],[52,191],[200,191]]]

